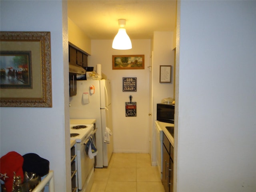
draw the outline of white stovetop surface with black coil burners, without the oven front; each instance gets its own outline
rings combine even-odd
[[[93,130],[93,124],[70,124],[70,138],[76,140],[80,143],[84,138],[88,137]],[[77,136],[71,137],[72,134],[79,134]]]

